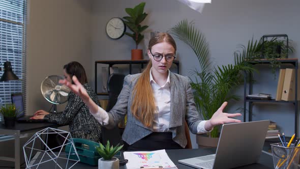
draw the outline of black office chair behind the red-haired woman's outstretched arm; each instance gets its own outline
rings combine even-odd
[[[107,92],[109,101],[106,107],[106,111],[110,111],[117,101],[117,97],[123,88],[124,74],[113,73],[107,80]],[[102,131],[102,143],[106,144],[109,140],[110,145],[116,146],[117,144],[123,144],[122,133],[116,125],[113,129],[101,128]]]

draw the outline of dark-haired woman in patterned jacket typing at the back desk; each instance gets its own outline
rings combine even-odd
[[[72,76],[78,77],[82,87],[87,92],[87,95],[95,104],[99,105],[96,93],[87,84],[87,78],[83,66],[78,62],[70,62],[64,66],[64,76],[66,81],[73,83]],[[100,105],[99,105],[100,106]],[[32,119],[44,119],[48,122],[57,123],[59,125],[69,125],[69,131],[73,138],[86,138],[94,142],[101,141],[101,125],[89,113],[89,108],[82,99],[74,94],[69,93],[68,104],[63,112],[46,112],[38,110],[35,112]]]

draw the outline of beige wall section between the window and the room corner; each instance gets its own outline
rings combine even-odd
[[[63,75],[71,61],[83,65],[91,80],[91,1],[31,0],[27,46],[27,113],[49,110],[41,94],[48,75]],[[64,105],[58,110],[64,110]]]

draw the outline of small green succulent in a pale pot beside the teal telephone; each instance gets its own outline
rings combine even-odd
[[[114,155],[123,148],[123,145],[117,144],[115,147],[110,146],[109,140],[104,147],[99,143],[99,147],[96,147],[97,152],[102,157],[98,160],[98,168],[105,169],[118,169],[119,168],[119,159],[114,157]]]

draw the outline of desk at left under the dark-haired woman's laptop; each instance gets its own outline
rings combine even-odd
[[[55,123],[16,123],[15,127],[5,127],[0,125],[0,134],[15,136],[15,158],[0,157],[0,160],[15,162],[15,168],[20,168],[20,134],[35,132],[47,127],[57,127]]]

